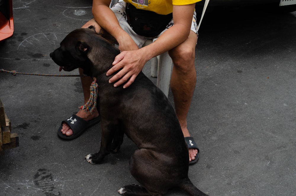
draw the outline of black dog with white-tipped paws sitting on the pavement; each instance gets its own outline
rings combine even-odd
[[[172,187],[206,195],[188,178],[188,148],[166,96],[142,72],[126,89],[109,84],[112,75],[107,77],[106,72],[120,51],[91,28],[72,31],[50,54],[60,69],[82,68],[97,78],[102,142],[99,152],[86,160],[101,163],[119,150],[126,134],[139,148],[130,160],[130,172],[142,186],[124,186],[118,191],[121,195],[163,195]]]

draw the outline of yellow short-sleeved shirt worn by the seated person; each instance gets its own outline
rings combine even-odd
[[[124,0],[137,9],[145,9],[157,14],[167,15],[173,12],[173,5],[189,5],[202,0]]]

